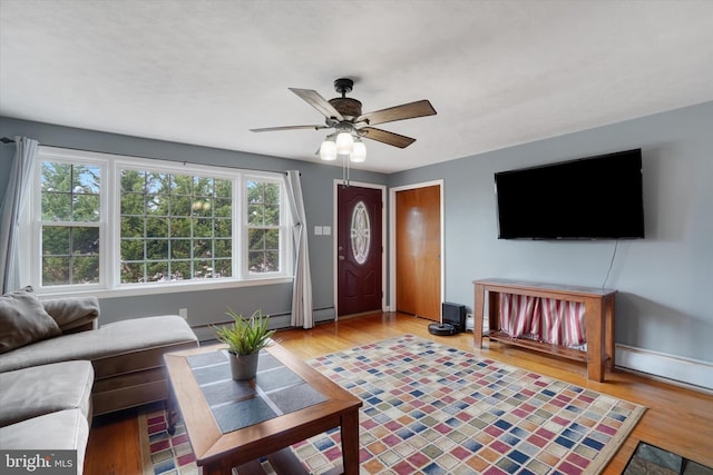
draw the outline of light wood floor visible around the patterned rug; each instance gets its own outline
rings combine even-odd
[[[648,409],[644,417],[606,467],[606,474],[622,473],[639,441],[713,467],[713,395],[623,370],[607,373],[605,383],[589,382],[584,363],[539,355],[488,340],[485,340],[484,349],[478,352],[472,346],[472,334],[437,337],[428,333],[428,320],[408,315],[378,314],[322,324],[310,330],[283,330],[276,337],[282,339],[284,347],[303,359],[403,334],[434,339],[646,406]],[[85,474],[140,474],[136,420],[136,414],[131,410],[95,418],[89,434]]]

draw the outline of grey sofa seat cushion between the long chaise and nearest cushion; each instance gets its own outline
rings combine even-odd
[[[64,409],[90,418],[94,368],[65,362],[0,373],[0,427]]]

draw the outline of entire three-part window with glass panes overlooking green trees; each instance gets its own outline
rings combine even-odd
[[[38,291],[290,277],[280,174],[40,147],[37,177]]]

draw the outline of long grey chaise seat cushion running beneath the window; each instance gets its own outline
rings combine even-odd
[[[89,359],[95,363],[95,377],[100,378],[107,374],[96,366],[97,360],[136,353],[139,353],[137,356],[140,358],[140,352],[147,349],[192,342],[197,342],[196,335],[186,320],[177,315],[133,318],[102,325],[96,330],[38,342],[0,355],[0,373],[49,363]],[[110,376],[116,375],[116,372],[120,374],[130,370],[133,369],[118,367],[107,369]]]

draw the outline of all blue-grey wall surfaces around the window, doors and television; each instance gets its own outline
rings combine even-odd
[[[0,137],[47,145],[219,166],[302,171],[307,225],[332,222],[339,167],[216,150],[0,118]],[[646,239],[619,241],[498,240],[496,171],[643,149]],[[0,194],[13,146],[0,146]],[[472,307],[472,280],[518,278],[616,288],[616,340],[713,362],[713,102],[511,147],[390,176],[354,172],[364,182],[404,186],[445,180],[446,300]],[[605,186],[605,185],[604,185]],[[2,195],[0,195],[2,196]],[[312,229],[311,229],[312,231]],[[329,237],[310,232],[314,307],[333,307]],[[194,325],[224,319],[226,306],[289,313],[289,285],[102,299],[102,320],[174,314],[187,307]]]

